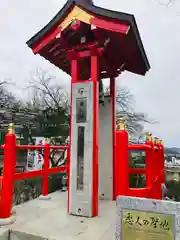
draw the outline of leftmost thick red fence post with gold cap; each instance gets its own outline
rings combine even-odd
[[[9,218],[12,209],[14,174],[16,167],[16,136],[13,124],[9,125],[5,137],[3,181],[1,192],[0,218]]]

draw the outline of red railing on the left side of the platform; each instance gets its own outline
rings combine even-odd
[[[1,199],[0,199],[0,218],[8,218],[11,215],[14,181],[23,180],[25,178],[39,177],[42,180],[42,195],[48,195],[48,175],[58,172],[67,172],[69,178],[69,160],[70,160],[70,147],[69,146],[50,146],[46,143],[44,146],[29,146],[29,145],[16,145],[16,136],[9,133],[5,137],[5,144],[0,146],[4,149],[4,165],[3,174],[1,177]],[[44,167],[42,170],[35,170],[31,172],[15,173],[16,155],[18,149],[41,149],[44,150]],[[60,167],[49,167],[49,155],[51,149],[67,149],[67,164]]]

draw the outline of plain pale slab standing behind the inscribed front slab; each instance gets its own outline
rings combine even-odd
[[[99,197],[113,199],[112,101],[105,97],[99,106]]]

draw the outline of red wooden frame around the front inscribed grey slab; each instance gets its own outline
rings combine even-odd
[[[78,84],[83,82],[91,82],[92,83],[92,108],[93,108],[93,121],[92,121],[92,128],[93,128],[93,146],[92,146],[92,192],[91,192],[91,202],[92,202],[92,212],[89,214],[93,217],[98,215],[98,117],[99,117],[99,55],[101,54],[101,51],[97,49],[94,46],[87,45],[88,51],[85,52],[76,52],[76,51],[70,51],[69,52],[69,58],[71,60],[71,76],[72,76],[72,84]],[[79,63],[78,59],[83,59],[89,57],[91,61],[91,73],[90,76],[88,76],[89,79],[80,79],[79,77]],[[71,89],[71,103],[72,103],[72,89]],[[72,107],[72,104],[71,104]],[[71,109],[71,117],[72,117],[72,109]],[[71,119],[71,128],[72,128],[72,119]],[[72,130],[70,129],[70,136],[72,136]],[[70,139],[70,145],[72,144],[72,139]],[[71,153],[70,153],[71,154]],[[71,164],[71,163],[70,163]],[[91,171],[90,171],[91,172]],[[68,193],[68,211],[69,205],[72,201],[70,201],[72,193],[70,189]],[[85,193],[85,191],[84,191]],[[83,194],[84,194],[83,193]],[[75,210],[73,210],[75,211]],[[88,210],[89,211],[89,210]]]

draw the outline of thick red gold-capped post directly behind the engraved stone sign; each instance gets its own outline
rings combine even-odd
[[[116,131],[116,161],[115,161],[115,193],[127,195],[129,189],[129,154],[128,132],[125,130],[125,121],[120,119]]]

